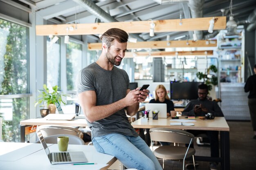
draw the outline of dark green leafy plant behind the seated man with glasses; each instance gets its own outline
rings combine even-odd
[[[203,79],[204,84],[208,86],[208,91],[211,91],[212,85],[216,86],[218,84],[218,77],[216,76],[216,74],[210,74],[210,71],[213,73],[217,73],[218,69],[216,68],[216,66],[211,65],[209,66],[209,68],[207,68],[205,73],[196,73],[196,77],[198,77],[198,79],[200,80]]]

